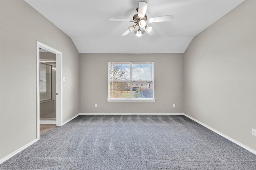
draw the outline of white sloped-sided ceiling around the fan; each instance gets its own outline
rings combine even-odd
[[[198,33],[244,0],[145,0],[147,18],[173,15],[174,20],[148,23],[155,34],[121,36],[140,0],[25,0],[71,37],[79,53],[184,53]],[[138,47],[137,47],[138,45]]]

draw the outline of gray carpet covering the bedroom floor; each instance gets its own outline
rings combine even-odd
[[[256,170],[256,155],[184,115],[80,115],[1,170]]]

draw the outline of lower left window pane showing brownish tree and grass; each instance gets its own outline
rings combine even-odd
[[[109,98],[130,98],[130,83],[109,82]]]

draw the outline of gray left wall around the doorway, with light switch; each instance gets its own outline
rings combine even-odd
[[[79,53],[23,0],[0,0],[0,158],[36,139],[36,41],[63,53],[63,122],[78,114]]]

